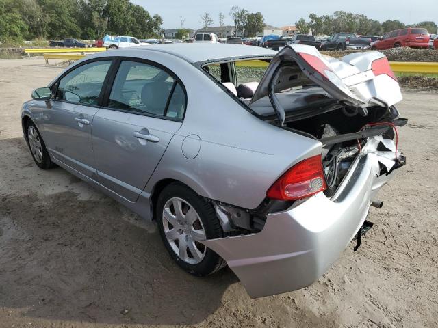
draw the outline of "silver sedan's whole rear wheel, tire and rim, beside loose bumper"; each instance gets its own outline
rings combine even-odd
[[[224,260],[201,243],[223,236],[214,207],[206,200],[175,182],[160,193],[156,213],[159,234],[179,267],[200,277],[224,267]]]

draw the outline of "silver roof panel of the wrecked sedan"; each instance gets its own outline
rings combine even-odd
[[[129,49],[132,51],[159,51],[168,53],[191,64],[200,61],[218,61],[237,57],[274,57],[277,53],[276,51],[259,46],[222,43],[153,44],[151,46],[136,46]]]

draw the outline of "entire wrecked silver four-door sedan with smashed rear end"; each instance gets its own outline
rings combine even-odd
[[[405,163],[387,58],[312,46],[163,44],[77,61],[21,111],[58,165],[157,222],[194,275],[228,265],[251,297],[312,284],[372,223]]]

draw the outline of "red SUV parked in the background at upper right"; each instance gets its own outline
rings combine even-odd
[[[427,29],[421,27],[408,27],[386,33],[383,38],[379,38],[371,46],[372,50],[385,50],[398,48],[400,46],[410,46],[411,48],[429,48],[429,33]]]

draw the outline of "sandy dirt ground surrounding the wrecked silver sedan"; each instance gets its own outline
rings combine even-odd
[[[0,327],[438,327],[438,94],[404,93],[407,165],[359,251],[305,289],[253,300],[229,269],[184,273],[155,224],[34,165],[19,111],[57,72],[0,60]]]

